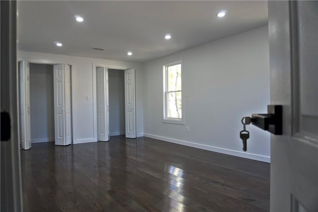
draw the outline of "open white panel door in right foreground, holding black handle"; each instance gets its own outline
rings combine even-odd
[[[270,211],[318,212],[318,1],[268,1],[271,105]]]

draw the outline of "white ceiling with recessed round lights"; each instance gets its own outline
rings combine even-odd
[[[145,62],[266,24],[267,1],[18,1],[18,50]]]

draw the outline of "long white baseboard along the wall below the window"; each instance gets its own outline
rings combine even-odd
[[[163,137],[163,136],[158,136],[158,135],[152,135],[152,134],[147,134],[144,133],[145,137],[149,138],[154,138],[158,140],[163,140],[171,143],[176,143],[176,144],[181,144],[185,146],[190,146],[198,149],[204,149],[204,150],[209,150],[213,152],[219,152],[227,155],[233,155],[233,156],[238,156],[242,158],[248,158],[252,160],[257,160],[257,161],[262,161],[266,163],[270,163],[270,157],[264,156],[264,155],[256,155],[256,154],[251,154],[247,152],[239,152],[236,150],[231,150],[231,149],[225,149],[225,148],[220,148],[220,147],[215,147],[215,146],[209,146],[205,144],[199,144],[199,143],[193,143],[189,141],[183,141],[183,140],[178,140],[178,139],[173,139],[173,138],[168,138],[168,137]]]

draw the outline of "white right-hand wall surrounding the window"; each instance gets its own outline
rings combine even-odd
[[[185,125],[162,123],[162,66],[178,60]],[[241,118],[270,104],[267,26],[147,62],[143,80],[145,136],[269,162],[269,132],[248,125],[246,153],[239,138]]]

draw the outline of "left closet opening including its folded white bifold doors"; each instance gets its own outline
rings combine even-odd
[[[19,61],[19,140],[72,143],[71,65]]]

